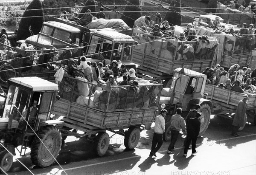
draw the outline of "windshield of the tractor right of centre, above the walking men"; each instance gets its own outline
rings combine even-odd
[[[180,78],[179,78],[180,77]],[[190,76],[187,76],[187,75],[184,75],[184,74],[181,74],[181,73],[178,73],[178,72],[175,72],[173,78],[172,78],[172,86],[171,86],[171,90],[174,89],[174,86],[175,86],[175,82],[177,81],[176,83],[176,87],[175,87],[175,91],[176,92],[180,92],[180,93],[184,93],[185,92],[185,89],[186,89],[186,85],[189,81],[189,77]],[[179,79],[178,79],[179,78]]]

